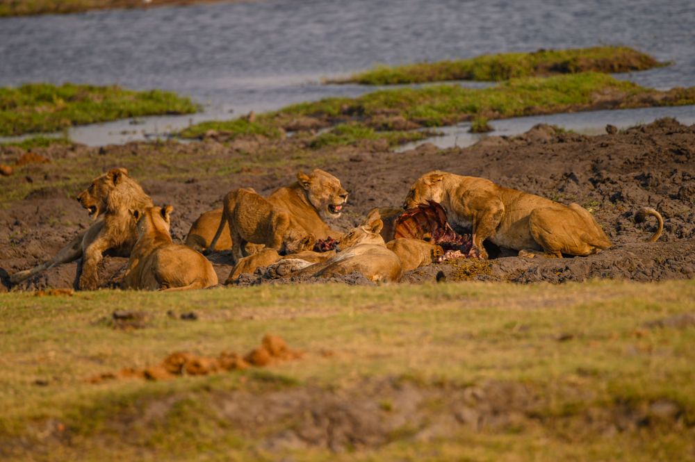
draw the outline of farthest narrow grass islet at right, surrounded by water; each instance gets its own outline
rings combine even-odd
[[[366,72],[329,81],[363,85],[395,85],[436,81],[505,81],[519,77],[576,74],[579,72],[630,72],[652,69],[659,63],[630,47],[591,47],[539,50],[533,53],[498,53],[463,60],[417,63],[389,67],[380,65]]]

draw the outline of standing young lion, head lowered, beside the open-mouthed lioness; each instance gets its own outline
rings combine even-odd
[[[225,224],[229,225],[234,263],[247,256],[244,249],[247,242],[263,244],[285,254],[313,249],[316,242],[315,236],[305,231],[293,215],[272,206],[251,189],[232,190],[224,197],[220,224],[206,254],[215,251]]]

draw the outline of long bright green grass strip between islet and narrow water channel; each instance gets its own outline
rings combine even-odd
[[[660,92],[607,74],[589,72],[512,79],[491,88],[427,85],[379,90],[354,99],[327,98],[316,103],[295,104],[279,112],[336,122],[359,120],[366,124],[389,113],[422,126],[443,126],[474,115],[500,119],[569,110],[685,104],[695,104],[695,87]]]

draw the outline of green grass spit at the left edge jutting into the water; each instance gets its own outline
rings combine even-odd
[[[190,99],[162,90],[29,83],[0,88],[0,136],[59,131],[126,117],[189,114],[197,109]]]

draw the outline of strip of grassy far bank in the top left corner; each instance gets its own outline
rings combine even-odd
[[[0,0],[0,17],[81,13],[110,8],[145,8],[146,6],[192,5],[215,0]],[[234,1],[234,0],[217,0]]]

